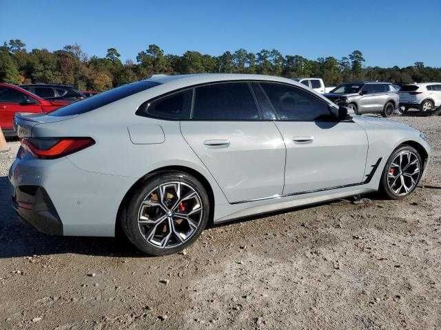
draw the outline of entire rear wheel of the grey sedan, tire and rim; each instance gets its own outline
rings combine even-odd
[[[136,248],[163,256],[196,241],[208,219],[209,199],[201,182],[173,171],[159,173],[138,188],[121,223]]]

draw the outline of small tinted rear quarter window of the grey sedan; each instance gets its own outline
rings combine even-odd
[[[193,91],[182,91],[147,103],[147,113],[165,119],[188,119]]]

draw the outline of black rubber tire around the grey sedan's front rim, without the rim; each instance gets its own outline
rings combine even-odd
[[[416,155],[416,157],[418,158],[418,162],[419,162],[419,175],[418,175],[418,179],[414,180],[416,183],[415,185],[409,190],[409,192],[406,192],[404,195],[398,195],[396,192],[394,192],[393,190],[391,190],[391,188],[389,187],[389,183],[388,183],[388,179],[389,179],[389,170],[391,169],[391,164],[393,163],[393,160],[396,159],[396,157],[398,155],[400,155],[400,153],[402,153],[403,151],[410,151],[411,153],[413,153],[413,155]],[[423,170],[423,163],[422,163],[422,159],[421,159],[421,155],[420,153],[418,153],[418,151],[416,150],[416,148],[413,148],[412,146],[401,146],[400,148],[397,148],[395,151],[393,151],[393,153],[391,153],[391,155],[389,156],[389,159],[387,159],[387,163],[384,166],[384,170],[381,176],[381,180],[380,180],[380,192],[382,192],[382,194],[384,195],[384,197],[387,197],[388,199],[402,199],[404,197],[409,196],[413,190],[415,190],[415,188],[418,186],[418,183],[420,182],[421,179],[421,175],[422,175],[422,170]],[[393,181],[393,178],[391,178],[391,180]]]

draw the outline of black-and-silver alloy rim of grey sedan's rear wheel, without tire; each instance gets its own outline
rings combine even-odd
[[[147,243],[156,248],[175,248],[198,230],[203,205],[189,184],[167,182],[147,194],[138,214],[138,228]]]

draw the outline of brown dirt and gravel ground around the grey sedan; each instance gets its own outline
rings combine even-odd
[[[0,329],[441,329],[441,117],[411,197],[345,199],[216,225],[186,254],[22,224],[0,153]]]

